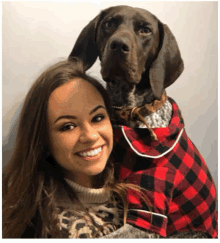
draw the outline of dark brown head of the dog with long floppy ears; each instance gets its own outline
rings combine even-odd
[[[107,83],[128,84],[160,99],[183,71],[183,61],[170,29],[150,12],[129,6],[103,10],[80,33],[69,56],[82,60],[85,71],[97,57]],[[123,88],[123,87],[121,87]]]

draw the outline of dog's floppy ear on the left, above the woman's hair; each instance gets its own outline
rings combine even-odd
[[[77,57],[83,64],[84,71],[88,70],[96,61],[98,50],[96,46],[96,29],[99,23],[100,14],[89,22],[81,31],[72,52],[69,55],[69,60]]]

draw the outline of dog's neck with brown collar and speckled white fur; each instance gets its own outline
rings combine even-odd
[[[123,81],[107,84],[107,92],[115,109],[112,121],[116,125],[148,128],[151,137],[157,140],[151,128],[167,127],[169,125],[172,116],[172,105],[167,100],[165,92],[161,100],[158,101],[155,100],[151,89],[141,91],[137,89],[136,85],[128,85]]]

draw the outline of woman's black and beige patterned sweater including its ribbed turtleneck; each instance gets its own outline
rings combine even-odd
[[[58,218],[65,238],[102,237],[123,225],[123,208],[118,198],[104,188],[85,188],[68,179],[66,181],[86,210],[77,203],[62,200]]]

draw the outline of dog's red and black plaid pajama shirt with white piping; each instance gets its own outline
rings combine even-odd
[[[173,107],[170,125],[153,129],[114,127],[118,179],[138,184],[148,206],[134,190],[127,194],[127,223],[168,236],[188,230],[217,236],[216,190],[201,154],[186,135],[181,112]],[[151,212],[151,213],[150,213]]]

